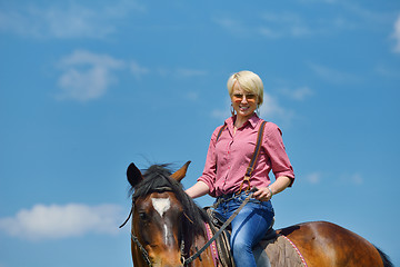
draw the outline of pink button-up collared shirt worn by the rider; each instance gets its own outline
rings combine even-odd
[[[221,127],[213,131],[204,170],[198,179],[207,184],[210,195],[214,197],[239,191],[262,121],[254,113],[233,136],[233,119],[234,117],[231,117],[224,121],[227,128],[218,141],[217,135]],[[293,168],[284,150],[282,132],[273,122],[266,123],[261,150],[250,178],[251,187],[266,187],[271,184],[270,170],[276,178],[287,176],[294,179]]]

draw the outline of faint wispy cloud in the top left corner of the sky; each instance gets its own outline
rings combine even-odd
[[[136,1],[90,8],[74,2],[51,7],[14,4],[0,11],[0,30],[37,38],[104,38],[116,31],[117,20],[132,10],[143,8]]]

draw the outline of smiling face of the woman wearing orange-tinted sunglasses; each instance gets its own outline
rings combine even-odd
[[[233,85],[231,100],[238,117],[250,118],[258,106],[258,96],[252,92],[246,92],[239,82]]]

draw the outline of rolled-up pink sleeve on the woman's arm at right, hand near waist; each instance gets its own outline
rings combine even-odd
[[[270,122],[267,126],[262,144],[270,158],[272,172],[277,179],[281,176],[289,177],[291,186],[294,181],[294,172],[283,145],[282,131],[274,123]]]

